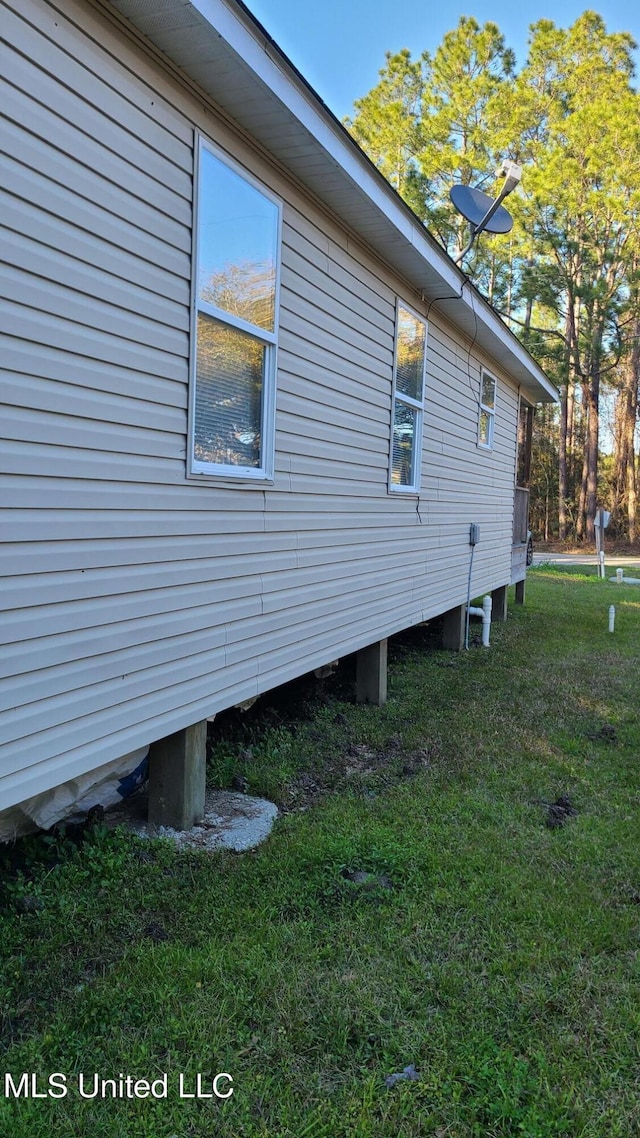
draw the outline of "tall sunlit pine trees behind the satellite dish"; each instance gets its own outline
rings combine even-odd
[[[347,125],[451,253],[467,242],[456,182],[495,195],[506,157],[524,166],[508,237],[484,234],[466,271],[561,390],[536,427],[536,527],[592,537],[599,504],[637,536],[640,379],[640,101],[635,44],[585,11],[530,30],[525,65],[493,23],[462,17],[430,56],[386,57]],[[613,461],[599,479],[602,393]],[[550,456],[553,456],[551,477]],[[607,500],[605,501],[605,496]]]

